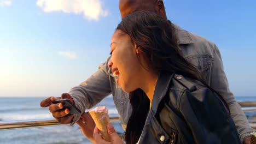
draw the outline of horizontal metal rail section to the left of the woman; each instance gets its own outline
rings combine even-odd
[[[109,117],[110,121],[119,121],[119,117]],[[0,121],[1,130],[13,130],[13,129],[25,129],[25,128],[37,128],[37,127],[49,127],[56,125],[68,125],[61,124],[56,119],[45,118],[45,119],[28,119],[19,121]]]

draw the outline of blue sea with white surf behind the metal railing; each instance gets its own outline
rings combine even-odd
[[[0,98],[0,122],[18,121],[25,119],[53,118],[47,107],[40,107],[40,101],[45,99],[39,97],[27,98]],[[236,97],[237,101],[256,101],[255,97]],[[104,98],[96,106],[106,106],[109,116],[118,116],[112,96]],[[245,112],[250,119],[256,116],[256,112]],[[123,134],[124,130],[119,121],[112,122],[115,130]],[[44,143],[44,144],[64,144],[64,143],[91,143],[80,131],[78,124],[60,125],[41,128],[26,128],[16,130],[0,131],[0,143]]]

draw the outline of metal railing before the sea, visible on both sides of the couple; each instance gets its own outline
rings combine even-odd
[[[256,101],[239,102],[244,112],[256,111]],[[246,106],[246,107],[243,107]],[[109,117],[110,121],[119,121],[118,116]],[[37,128],[37,127],[49,127],[63,125],[56,121],[56,119],[45,118],[45,119],[28,119],[18,121],[0,121],[1,130],[13,130],[13,129],[25,129],[25,128]],[[251,127],[256,129],[256,123],[250,123]]]

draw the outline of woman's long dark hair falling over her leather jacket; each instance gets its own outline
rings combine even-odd
[[[150,64],[150,69],[181,74],[190,79],[199,80],[214,91],[207,85],[200,71],[182,56],[170,21],[149,11],[136,11],[124,17],[117,29],[130,35],[133,43],[143,52],[144,58]],[[223,97],[221,95],[219,97],[229,110]],[[130,103],[132,113],[125,131],[125,141],[136,143],[146,122],[150,101],[142,89],[136,89],[130,92]]]

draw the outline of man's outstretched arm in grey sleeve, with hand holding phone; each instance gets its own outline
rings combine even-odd
[[[72,88],[69,93],[63,93],[61,98],[71,100],[83,113],[85,109],[90,109],[109,95],[111,93],[107,66],[109,58],[105,63],[100,65],[100,68],[88,80]],[[49,97],[44,99],[40,102],[40,106],[49,107],[49,111],[53,114],[53,117],[60,123],[71,123],[73,125],[77,122],[82,113],[80,115],[70,115],[68,109],[62,109],[62,104],[52,103],[56,99],[60,98]]]

